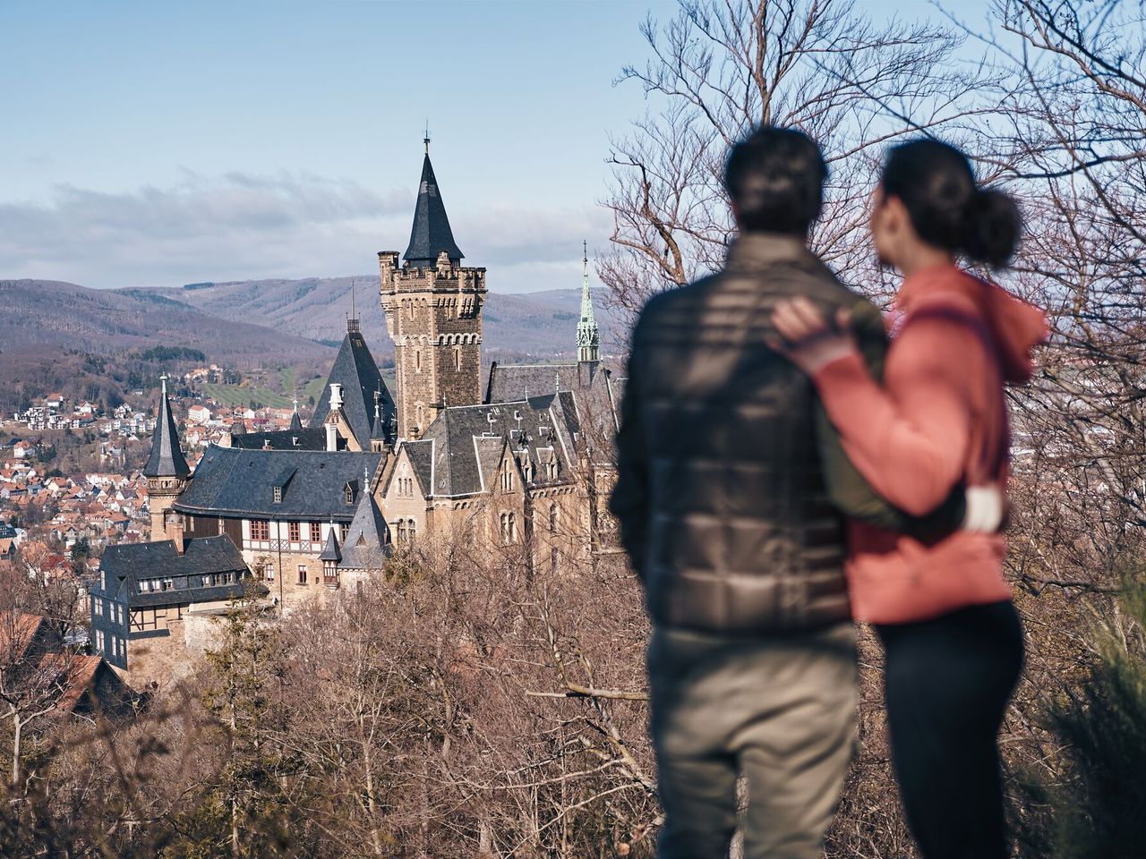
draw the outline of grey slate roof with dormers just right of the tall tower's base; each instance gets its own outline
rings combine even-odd
[[[415,444],[432,443],[430,495],[448,497],[482,491],[486,470],[490,463],[496,467],[500,460],[500,450],[495,459],[494,449],[502,440],[508,441],[519,462],[528,458],[533,463],[534,482],[543,482],[540,451],[552,448],[560,466],[567,468],[578,456],[579,432],[576,399],[572,392],[562,392],[517,402],[444,409]],[[425,456],[424,448],[418,456]],[[424,468],[416,471],[422,479]]]

